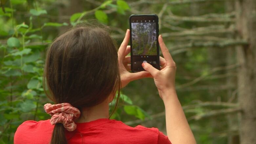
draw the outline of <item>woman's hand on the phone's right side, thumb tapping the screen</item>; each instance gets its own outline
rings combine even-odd
[[[161,35],[159,35],[158,41],[164,57],[160,57],[160,65],[162,66],[161,70],[154,68],[149,63],[142,63],[142,67],[153,76],[159,95],[164,100],[167,98],[166,96],[168,96],[164,93],[168,91],[175,91],[176,64],[173,61],[170,52],[166,48]]]

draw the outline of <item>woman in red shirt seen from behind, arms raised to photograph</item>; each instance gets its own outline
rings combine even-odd
[[[109,33],[96,26],[74,28],[53,42],[47,52],[44,86],[55,105],[45,104],[52,118],[25,121],[15,144],[195,144],[175,91],[176,65],[161,35],[161,70],[142,63],[143,72],[130,73],[130,31],[117,52]],[[154,78],[166,111],[167,136],[157,128],[129,127],[109,119],[109,103],[130,81]],[[170,142],[171,141],[171,142]]]

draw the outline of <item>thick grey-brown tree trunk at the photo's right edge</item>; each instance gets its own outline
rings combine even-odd
[[[248,45],[237,47],[240,142],[256,144],[256,1],[237,0],[236,18],[238,38],[248,41]]]

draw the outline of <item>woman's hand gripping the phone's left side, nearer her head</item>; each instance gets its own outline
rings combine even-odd
[[[121,77],[121,87],[125,87],[129,82],[141,79],[144,77],[152,77],[149,72],[141,71],[141,72],[135,72],[131,73],[131,65],[128,63],[131,63],[131,56],[127,56],[130,51],[131,47],[128,46],[130,39],[130,30],[128,29],[126,31],[124,40],[118,50],[118,65],[119,65],[119,71],[120,71],[120,77]]]

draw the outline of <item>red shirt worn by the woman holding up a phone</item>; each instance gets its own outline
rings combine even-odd
[[[66,131],[69,144],[171,144],[157,128],[130,127],[107,118],[76,125],[75,131]],[[49,119],[25,121],[14,135],[14,144],[49,144],[53,128]]]

